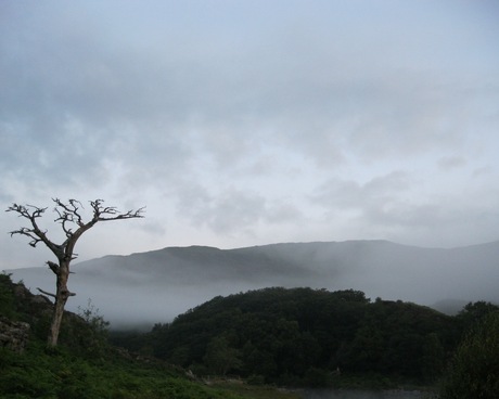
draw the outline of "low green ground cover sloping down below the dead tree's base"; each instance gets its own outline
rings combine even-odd
[[[23,355],[0,351],[0,398],[47,399],[294,399],[272,387],[185,377],[162,362],[143,362],[110,352],[100,359],[75,356],[68,348],[46,350],[30,343]]]

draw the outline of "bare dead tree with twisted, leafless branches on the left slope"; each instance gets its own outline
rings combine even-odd
[[[84,221],[81,213],[84,207],[79,201],[68,200],[67,203],[63,203],[59,198],[52,198],[52,201],[55,203],[53,210],[57,215],[54,221],[61,224],[66,237],[62,244],[55,244],[53,241],[49,240],[47,230],[40,229],[37,223],[37,219],[44,214],[47,208],[39,208],[34,205],[12,204],[7,211],[14,211],[18,214],[20,217],[29,220],[30,223],[30,227],[11,231],[11,236],[14,234],[26,235],[31,240],[29,245],[33,247],[36,247],[37,244],[41,242],[47,245],[57,259],[57,262],[47,261],[50,270],[52,270],[56,276],[55,294],[37,288],[41,293],[54,298],[52,322],[48,336],[48,345],[54,347],[57,345],[64,307],[67,299],[75,295],[67,288],[67,280],[69,278],[69,265],[72,260],[77,257],[77,254],[75,254],[76,242],[81,234],[100,221],[142,218],[144,208],[119,213],[115,207],[104,206],[102,200],[90,201],[92,218],[88,221]]]

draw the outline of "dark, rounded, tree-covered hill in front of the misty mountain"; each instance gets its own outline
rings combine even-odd
[[[353,289],[271,287],[215,297],[150,334],[115,340],[200,375],[306,386],[329,385],[340,373],[421,383],[440,375],[466,325],[494,309],[477,303],[449,317]]]

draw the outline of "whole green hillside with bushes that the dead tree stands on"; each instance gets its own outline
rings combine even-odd
[[[188,377],[179,366],[131,356],[107,344],[105,323],[89,311],[84,311],[84,318],[66,313],[61,345],[49,351],[44,343],[50,304],[5,274],[0,274],[0,313],[30,325],[22,353],[0,348],[1,398],[295,398],[291,392],[241,389],[240,384],[227,382],[208,386]]]

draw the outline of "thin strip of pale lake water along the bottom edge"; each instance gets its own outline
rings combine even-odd
[[[432,394],[419,390],[332,390],[305,391],[304,399],[430,399]]]

